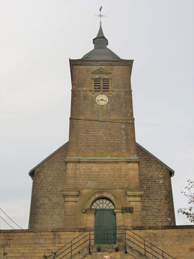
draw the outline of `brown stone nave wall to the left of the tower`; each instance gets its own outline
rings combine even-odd
[[[31,229],[64,228],[64,198],[68,145],[42,163],[33,179],[30,221]]]

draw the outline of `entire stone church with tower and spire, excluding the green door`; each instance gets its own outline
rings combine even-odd
[[[29,228],[94,228],[98,199],[114,204],[115,226],[175,225],[174,171],[135,140],[133,60],[107,48],[101,25],[93,43],[70,60],[69,141],[30,171]]]

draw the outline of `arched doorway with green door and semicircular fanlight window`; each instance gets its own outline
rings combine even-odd
[[[91,208],[96,209],[95,244],[116,244],[116,215],[113,202],[106,198],[97,199]]]

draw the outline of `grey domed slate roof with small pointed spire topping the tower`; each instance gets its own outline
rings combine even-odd
[[[96,38],[93,39],[94,49],[85,54],[81,59],[91,60],[111,60],[120,59],[113,51],[107,48],[108,40],[104,36],[100,25]]]

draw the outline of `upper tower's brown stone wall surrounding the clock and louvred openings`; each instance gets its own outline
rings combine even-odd
[[[133,61],[72,63],[68,157],[136,157],[130,75]],[[110,89],[95,90],[93,71],[110,72]],[[98,105],[96,97],[108,97]],[[102,122],[102,120],[104,120]],[[109,121],[109,122],[108,122]],[[120,123],[122,122],[122,123]]]

